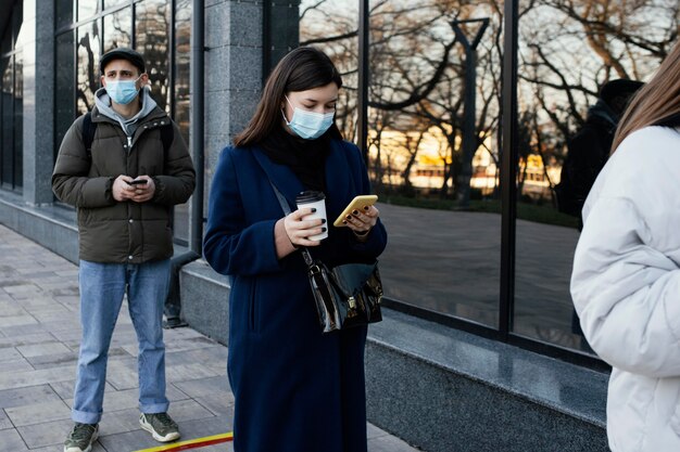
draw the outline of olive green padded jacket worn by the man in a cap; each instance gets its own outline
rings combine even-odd
[[[79,257],[92,262],[142,263],[173,256],[172,207],[186,203],[196,185],[196,171],[177,125],[158,106],[126,137],[121,125],[92,108],[97,125],[91,155],[83,140],[83,118],[71,126],[52,173],[56,197],[78,211]],[[173,141],[163,148],[161,128],[171,122]],[[121,175],[150,176],[151,201],[113,198]]]

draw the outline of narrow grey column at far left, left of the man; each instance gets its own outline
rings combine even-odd
[[[54,2],[24,0],[24,202],[53,201]],[[36,24],[40,24],[37,26]]]

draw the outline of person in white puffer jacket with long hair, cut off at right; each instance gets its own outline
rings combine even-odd
[[[680,44],[632,99],[583,208],[571,296],[612,365],[613,452],[680,451]]]

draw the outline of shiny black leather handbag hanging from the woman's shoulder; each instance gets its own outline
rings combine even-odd
[[[284,195],[274,183],[272,188],[284,214],[290,214]],[[307,276],[324,333],[382,320],[382,282],[377,260],[373,263],[343,263],[329,268],[314,259],[308,249],[302,248],[301,253],[307,264]]]

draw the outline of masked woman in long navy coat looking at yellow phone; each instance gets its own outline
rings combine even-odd
[[[231,276],[228,376],[236,452],[365,452],[366,327],[323,334],[306,266],[369,261],[387,245],[379,210],[330,225],[370,185],[360,150],[335,125],[341,77],[314,48],[288,53],[247,128],[225,148],[212,182],[203,253]],[[285,216],[272,186],[286,197]],[[295,195],[326,195],[328,222]],[[323,241],[308,238],[328,230]]]

